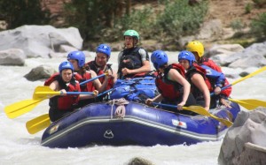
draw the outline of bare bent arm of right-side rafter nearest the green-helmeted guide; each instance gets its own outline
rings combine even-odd
[[[174,69],[171,69],[168,72],[168,78],[171,79],[171,80],[173,80],[173,81],[176,81],[177,83],[179,83],[182,86],[184,86],[183,99],[177,105],[177,109],[182,109],[181,107],[184,106],[184,104],[187,101],[188,96],[189,96],[189,94],[191,92],[191,85],[190,85],[190,83],[186,79],[184,79],[184,77],[178,71],[176,71]]]

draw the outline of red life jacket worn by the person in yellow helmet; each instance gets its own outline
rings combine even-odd
[[[218,66],[217,64],[215,64],[215,62],[209,58],[201,58],[201,61],[200,61],[201,64],[205,64],[207,65],[208,67],[214,69],[215,71],[219,71],[219,72],[223,72],[221,67]],[[228,86],[230,85],[229,81],[225,78],[225,81],[224,81],[224,86]],[[221,94],[225,95],[226,97],[229,97],[229,95],[231,94],[231,86],[230,87],[227,87],[226,89],[224,89]]]

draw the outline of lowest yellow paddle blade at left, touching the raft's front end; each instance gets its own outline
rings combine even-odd
[[[48,114],[38,116],[32,120],[27,121],[26,128],[28,133],[35,134],[38,131],[42,131],[51,124]]]

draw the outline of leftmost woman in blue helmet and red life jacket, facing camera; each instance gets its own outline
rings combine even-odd
[[[57,95],[49,101],[49,116],[51,122],[66,116],[78,108],[79,94],[66,95],[66,92],[80,92],[80,85],[74,79],[74,68],[69,62],[59,65],[59,74],[54,74],[44,82],[44,86],[50,86],[54,91],[60,91],[65,95]]]

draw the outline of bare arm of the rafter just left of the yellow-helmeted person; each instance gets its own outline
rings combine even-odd
[[[202,92],[205,101],[204,108],[208,110],[210,104],[210,95],[205,80],[199,73],[195,73],[192,76],[192,83],[200,89],[200,92]]]

